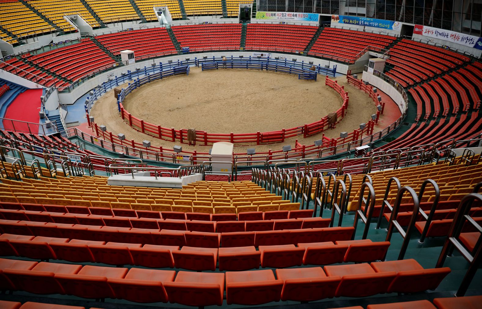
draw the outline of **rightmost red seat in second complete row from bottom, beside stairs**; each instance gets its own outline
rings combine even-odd
[[[385,259],[390,242],[372,242],[369,239],[356,241],[337,241],[338,245],[348,245],[344,262],[371,262]]]

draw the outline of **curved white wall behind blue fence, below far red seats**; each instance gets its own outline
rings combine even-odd
[[[180,54],[180,55],[173,55],[173,56],[168,56],[168,57],[162,57],[162,58],[155,58],[155,59],[148,59],[142,62],[137,62],[132,65],[128,66],[122,66],[122,67],[116,67],[112,70],[109,70],[105,73],[99,74],[96,77],[94,77],[91,80],[87,80],[75,89],[73,89],[70,93],[59,93],[59,99],[60,102],[64,105],[70,105],[74,104],[77,99],[79,99],[82,95],[88,93],[97,85],[102,84],[104,81],[107,81],[109,77],[115,77],[115,76],[120,76],[122,72],[127,72],[127,70],[134,71],[136,67],[144,67],[144,66],[150,66],[152,62],[155,62],[156,64],[159,64],[160,62],[162,63],[168,63],[169,60],[172,60],[173,62],[176,61],[185,61],[187,58],[189,59],[202,59],[204,56],[208,58],[214,57],[249,57],[249,56],[255,56],[254,54],[260,54],[260,53],[253,53],[253,52],[211,52],[211,53],[203,53],[203,54]],[[318,58],[311,58],[307,56],[302,56],[302,55],[296,55],[296,54],[281,54],[281,53],[263,53],[263,54],[270,54],[271,58],[275,57],[280,57],[280,59],[286,59],[286,60],[293,60],[296,59],[298,62],[305,62],[305,63],[310,63],[313,62],[314,66],[322,66],[324,67],[325,65],[329,65],[330,67],[336,66],[336,72],[341,73],[341,74],[347,74],[348,71],[348,66],[339,64],[333,61],[329,60],[323,60],[323,59],[318,59]]]

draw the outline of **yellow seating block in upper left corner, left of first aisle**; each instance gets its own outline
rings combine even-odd
[[[12,32],[17,37],[41,35],[54,30],[39,15],[31,11],[20,1],[3,1],[0,12],[1,27]]]

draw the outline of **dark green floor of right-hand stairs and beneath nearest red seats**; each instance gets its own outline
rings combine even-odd
[[[313,209],[313,202],[309,203],[309,208]],[[319,215],[319,212],[318,214]],[[323,210],[323,217],[328,218],[331,216],[331,210],[324,209]],[[335,222],[338,220],[338,215],[335,215]],[[352,226],[354,220],[354,212],[349,212],[347,215],[344,215],[342,226]],[[382,227],[380,229],[375,229],[375,220],[372,220],[373,223],[370,224],[370,229],[368,232],[368,238],[374,242],[377,241],[385,241],[387,231],[385,228],[387,227],[387,222],[384,221],[382,223]],[[364,225],[359,222],[358,228],[356,231],[355,239],[361,239],[362,232],[363,232]],[[442,244],[444,239],[443,238],[428,238],[424,244],[418,243],[419,238],[418,231],[412,235],[412,239],[409,242],[408,249],[405,255],[405,258],[414,258],[417,260],[424,268],[434,268],[435,263],[440,255],[442,250]],[[387,260],[396,260],[400,253],[400,248],[402,246],[402,237],[398,233],[394,233],[391,239],[391,245],[388,250]],[[10,257],[16,258],[16,257]],[[24,258],[27,259],[27,258]],[[66,261],[52,261],[52,262],[62,262],[62,263],[69,263],[69,264],[76,264],[70,263]],[[84,265],[91,264],[91,265],[100,265],[100,266],[109,266],[99,263],[82,263]],[[349,298],[349,297],[337,297],[333,299],[324,299],[318,302],[311,302],[311,303],[304,303],[300,304],[298,302],[276,302],[276,303],[269,303],[265,305],[261,305],[258,307],[265,307],[265,308],[339,308],[339,307],[348,307],[348,306],[366,306],[369,304],[375,303],[390,303],[390,302],[399,302],[399,301],[412,301],[412,300],[420,300],[420,299],[428,299],[432,300],[436,297],[452,297],[455,291],[458,289],[462,278],[464,277],[466,270],[468,268],[468,263],[466,260],[460,256],[457,252],[454,253],[454,256],[448,257],[446,259],[445,265],[452,269],[452,272],[442,281],[439,287],[435,291],[427,291],[423,293],[417,293],[412,295],[397,295],[395,293],[392,294],[384,294],[384,295],[376,295],[367,298]],[[111,266],[113,267],[113,266]],[[127,266],[127,268],[131,268],[132,266]],[[310,267],[310,266],[302,266],[302,267]],[[297,267],[294,267],[297,268]],[[175,270],[182,270],[182,269],[175,269]],[[481,295],[482,294],[482,272],[479,270],[472,281],[471,285],[469,286],[469,290],[467,292],[467,296],[470,295]],[[137,304],[132,303],[125,300],[119,299],[107,299],[105,302],[95,302],[91,300],[86,300],[76,296],[63,296],[63,295],[47,295],[47,296],[38,296],[24,292],[14,292],[13,294],[1,294],[0,299],[2,300],[14,300],[14,301],[37,301],[37,302],[45,302],[45,303],[54,303],[54,304],[64,304],[64,305],[73,305],[73,306],[82,306],[85,308],[106,308],[106,309],[113,309],[113,308],[139,308],[139,309],[149,309],[149,308],[189,308],[183,305],[177,304],[164,304],[164,303],[155,303],[155,304]],[[226,301],[224,302],[223,308],[245,308],[245,307],[253,307],[253,306],[240,306],[240,305],[227,305]],[[210,306],[208,308],[219,308],[218,306]]]

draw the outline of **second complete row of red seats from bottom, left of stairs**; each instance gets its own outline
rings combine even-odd
[[[390,242],[370,240],[310,242],[283,245],[234,246],[206,248],[193,246],[192,235],[185,234],[187,245],[154,245],[86,241],[58,237],[2,234],[2,256],[32,259],[58,259],[69,262],[97,262],[110,265],[137,265],[149,268],[179,268],[189,270],[248,270],[286,268],[304,265],[329,265],[343,262],[383,260]],[[223,234],[221,234],[223,236]],[[199,235],[196,235],[199,237]],[[238,234],[239,236],[239,234]],[[232,240],[232,234],[224,234]],[[191,244],[192,243],[192,244]],[[217,264],[219,263],[219,264]],[[217,266],[219,265],[219,266]]]

